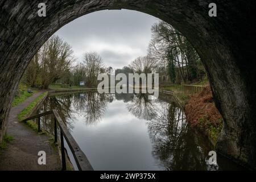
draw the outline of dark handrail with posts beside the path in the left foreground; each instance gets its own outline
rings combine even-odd
[[[23,122],[27,122],[31,119],[38,118],[38,132],[40,132],[40,117],[43,117],[45,115],[53,114],[54,115],[54,142],[57,144],[57,127],[60,128],[60,148],[61,148],[61,163],[62,163],[62,169],[66,170],[66,159],[65,159],[65,146],[64,146],[64,138],[72,152],[72,155],[75,159],[77,168],[79,171],[93,171],[92,166],[90,165],[89,160],[86,158],[84,152],[82,152],[79,145],[76,143],[76,140],[72,137],[71,133],[69,133],[67,126],[64,124],[62,119],[60,118],[59,114],[55,109],[52,111],[47,111],[42,114],[34,115],[32,117],[29,117],[27,119],[23,119]]]

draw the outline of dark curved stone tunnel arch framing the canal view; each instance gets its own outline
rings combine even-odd
[[[40,2],[46,2],[46,17],[37,14]],[[217,17],[208,16],[211,3],[208,0],[0,0],[0,140],[6,133],[14,90],[43,43],[59,28],[82,15],[129,9],[170,23],[195,47],[207,70],[216,106],[224,118],[217,150],[255,168],[255,2],[214,2]]]

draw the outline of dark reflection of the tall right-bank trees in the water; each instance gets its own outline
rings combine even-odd
[[[167,170],[207,169],[207,154],[174,104],[160,102],[158,114],[147,122],[153,155]]]

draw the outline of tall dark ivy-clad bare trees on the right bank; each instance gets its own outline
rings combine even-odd
[[[167,72],[177,84],[197,78],[200,58],[188,40],[163,21],[155,23],[151,31],[148,56],[161,62],[160,69],[167,68],[162,72]]]

